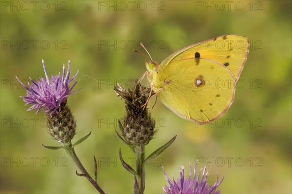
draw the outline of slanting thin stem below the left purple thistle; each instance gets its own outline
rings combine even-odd
[[[70,143],[69,145],[64,145],[64,149],[66,150],[66,152],[68,153],[68,155],[70,155],[74,161],[74,163],[76,164],[76,166],[79,168],[79,170],[82,172],[82,176],[85,176],[89,182],[91,183],[91,185],[93,185],[95,187],[95,189],[100,193],[100,194],[105,194],[105,192],[100,188],[100,186],[97,184],[97,182],[95,182],[92,178],[91,175],[88,174],[88,172],[86,171],[86,169],[84,168],[84,166],[82,165],[82,163],[80,162],[79,158],[77,157],[74,148],[72,147],[72,144]]]

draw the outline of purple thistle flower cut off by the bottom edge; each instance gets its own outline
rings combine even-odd
[[[195,165],[195,169],[194,169],[194,177],[192,179],[192,166],[190,164],[190,173],[189,173],[189,177],[184,179],[184,167],[181,166],[181,170],[180,170],[180,174],[181,174],[181,178],[178,178],[177,181],[174,180],[173,181],[170,180],[165,171],[164,171],[164,175],[165,178],[167,180],[167,182],[169,183],[169,186],[165,186],[163,188],[164,190],[164,194],[220,194],[221,190],[217,190],[215,191],[219,185],[222,183],[224,177],[222,178],[222,180],[218,183],[218,173],[217,173],[217,180],[215,182],[215,184],[212,186],[208,186],[207,183],[207,178],[208,178],[208,171],[205,174],[206,171],[206,166],[203,169],[203,173],[200,179],[200,174],[202,171],[199,171],[197,178],[196,178],[196,169],[197,169],[197,164],[198,161],[196,162]],[[164,167],[163,167],[164,170]]]

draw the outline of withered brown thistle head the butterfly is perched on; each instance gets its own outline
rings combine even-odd
[[[153,138],[156,130],[155,120],[151,118],[146,106],[150,88],[135,81],[132,90],[122,88],[119,84],[114,88],[116,94],[125,100],[126,115],[119,121],[119,127],[125,141],[136,147],[145,146]]]

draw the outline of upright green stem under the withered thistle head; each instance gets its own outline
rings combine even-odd
[[[136,156],[136,172],[140,176],[140,180],[138,180],[139,188],[134,187],[134,194],[143,194],[145,190],[145,148],[136,147],[135,148],[135,156]]]

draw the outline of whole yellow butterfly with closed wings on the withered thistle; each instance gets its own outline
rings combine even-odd
[[[223,35],[187,46],[160,64],[149,55],[144,76],[175,114],[199,124],[211,122],[231,106],[249,47],[244,36]]]

